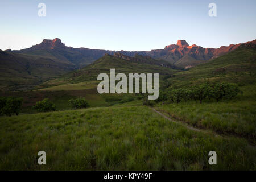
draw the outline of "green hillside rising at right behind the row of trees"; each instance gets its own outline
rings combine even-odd
[[[175,74],[169,81],[172,86],[192,85],[197,82],[226,81],[239,85],[255,83],[256,74],[256,49],[243,44],[240,48],[208,61],[208,63],[197,65],[188,71]],[[252,44],[255,46],[255,44]]]

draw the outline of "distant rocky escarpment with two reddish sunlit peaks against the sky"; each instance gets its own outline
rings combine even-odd
[[[171,64],[176,64],[185,68],[187,66],[192,67],[199,64],[201,61],[214,59],[224,55],[225,53],[235,50],[240,45],[241,44],[230,44],[229,46],[221,46],[220,48],[203,48],[196,44],[189,46],[185,40],[178,40],[177,44],[171,44],[164,47],[164,49],[155,49],[151,51],[109,51],[67,47],[59,38],[55,38],[53,40],[44,39],[40,44],[12,52],[51,56],[56,59],[69,61],[69,63],[75,64],[77,68],[82,68],[85,65],[92,63],[104,56],[105,53],[110,55],[113,55],[114,53],[122,53],[123,55],[131,57],[134,57],[135,55],[150,56],[154,59],[166,60]],[[192,63],[189,61],[192,61]]]

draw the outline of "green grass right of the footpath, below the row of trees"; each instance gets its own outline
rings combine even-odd
[[[256,84],[241,89],[243,94],[233,100],[158,104],[156,108],[189,125],[245,137],[256,144]]]

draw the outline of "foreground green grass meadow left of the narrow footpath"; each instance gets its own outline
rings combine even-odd
[[[144,106],[0,117],[0,133],[5,170],[255,170],[255,148],[246,140],[196,133]],[[37,164],[40,150],[46,165]]]

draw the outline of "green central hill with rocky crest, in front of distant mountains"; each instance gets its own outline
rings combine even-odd
[[[109,74],[111,68],[115,68],[115,73],[159,73],[160,78],[171,77],[174,73],[181,71],[180,69],[173,69],[171,67],[172,65],[170,63],[161,61],[159,64],[158,60],[154,60],[151,57],[143,57],[141,55],[130,57],[121,53],[114,53],[114,55],[106,53],[92,64],[67,73],[61,76],[61,78],[72,83],[93,81],[97,80],[97,76],[100,73]]]

